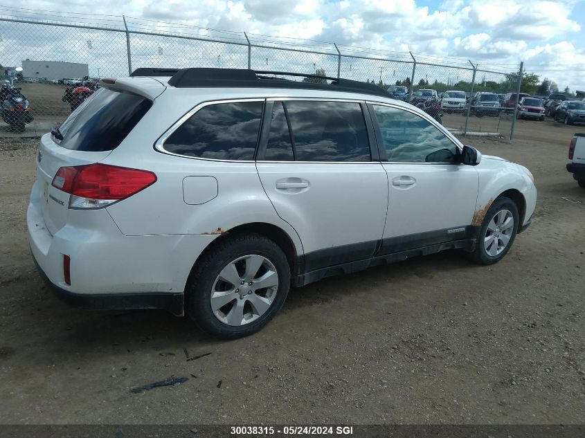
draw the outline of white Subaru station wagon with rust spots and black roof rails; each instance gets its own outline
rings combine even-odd
[[[451,248],[491,264],[530,224],[525,167],[373,84],[269,73],[138,69],[42,137],[28,233],[58,295],[236,338],[290,286]]]

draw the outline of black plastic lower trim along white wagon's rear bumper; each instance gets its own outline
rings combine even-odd
[[[183,293],[75,293],[53,284],[34,254],[33,261],[39,275],[57,298],[73,307],[89,310],[163,309],[175,316],[183,316]]]

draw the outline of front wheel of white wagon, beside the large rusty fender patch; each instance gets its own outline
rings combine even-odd
[[[519,227],[519,213],[512,199],[498,197],[489,207],[476,235],[471,258],[478,264],[499,262],[514,243]]]

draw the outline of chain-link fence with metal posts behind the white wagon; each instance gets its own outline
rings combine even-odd
[[[510,95],[519,91],[517,66],[498,72],[465,60],[129,17],[73,22],[0,15],[0,24],[5,94],[0,136],[43,134],[69,115],[70,94],[78,86],[91,89],[100,77],[128,75],[139,67],[254,69],[367,81],[405,102],[434,97],[442,124],[455,134],[512,138],[514,133],[516,104],[510,104]],[[24,127],[11,125],[7,117],[16,107],[5,91],[17,68],[21,78],[14,86],[26,96],[21,109],[33,119]]]

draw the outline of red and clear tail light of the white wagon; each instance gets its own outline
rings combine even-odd
[[[147,170],[105,164],[61,167],[53,187],[71,194],[69,208],[103,208],[131,197],[156,181]]]

